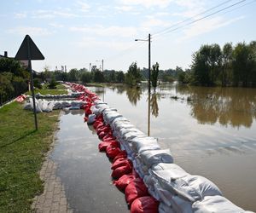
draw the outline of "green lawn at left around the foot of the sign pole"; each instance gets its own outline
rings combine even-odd
[[[30,212],[32,199],[43,192],[41,169],[53,139],[59,111],[38,114],[13,102],[0,108],[0,212]]]

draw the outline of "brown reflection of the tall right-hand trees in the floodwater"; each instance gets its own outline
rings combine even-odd
[[[191,116],[200,124],[251,127],[256,118],[255,89],[177,86],[177,94],[188,95]]]

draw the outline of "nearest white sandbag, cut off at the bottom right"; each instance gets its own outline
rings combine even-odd
[[[192,204],[195,213],[242,213],[246,212],[222,196],[206,196]]]

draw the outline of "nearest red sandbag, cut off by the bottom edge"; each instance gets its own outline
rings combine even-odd
[[[135,199],[131,204],[131,213],[157,213],[159,202],[151,196]]]

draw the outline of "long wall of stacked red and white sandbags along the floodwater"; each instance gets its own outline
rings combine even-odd
[[[113,184],[125,193],[132,213],[252,212],[225,199],[212,181],[174,164],[169,149],[162,150],[157,139],[137,130],[89,89],[69,85],[84,91],[79,97],[87,102],[84,121],[93,124],[102,140],[99,151],[111,159]]]

